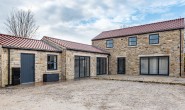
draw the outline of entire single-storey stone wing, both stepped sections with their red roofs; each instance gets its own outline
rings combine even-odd
[[[107,74],[109,53],[91,45],[43,37],[42,40],[0,34],[0,87],[42,82],[44,75],[74,79]],[[103,59],[96,70],[97,59]],[[15,80],[16,79],[16,80]]]

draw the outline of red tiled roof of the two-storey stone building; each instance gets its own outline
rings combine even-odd
[[[140,26],[133,26],[123,29],[116,29],[110,31],[104,31],[97,35],[92,40],[100,40],[106,38],[114,38],[120,36],[129,36],[129,35],[136,35],[136,34],[143,34],[143,33],[150,33],[150,32],[159,32],[159,31],[167,31],[173,29],[183,29],[184,28],[184,18],[163,21],[163,22],[156,22],[151,24],[145,24]]]

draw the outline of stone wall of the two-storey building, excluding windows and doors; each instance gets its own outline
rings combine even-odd
[[[154,33],[150,33],[154,34]],[[96,40],[92,42],[92,45],[105,49],[110,52],[110,74],[117,74],[117,57],[126,58],[126,74],[139,75],[139,59],[140,56],[169,56],[170,58],[170,76],[179,76],[180,74],[180,31],[165,31],[158,32],[159,44],[149,44],[149,34],[135,35],[137,36],[137,46],[128,46],[127,37],[113,38],[114,47],[106,48],[106,40]],[[182,74],[184,74],[184,30],[182,30]]]

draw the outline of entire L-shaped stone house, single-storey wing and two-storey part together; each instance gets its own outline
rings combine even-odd
[[[92,45],[0,34],[0,87],[103,74],[184,74],[184,19],[104,31]],[[16,79],[16,80],[15,80]]]

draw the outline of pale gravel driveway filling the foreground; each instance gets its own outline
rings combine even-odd
[[[185,86],[84,79],[0,89],[0,110],[184,110]]]

